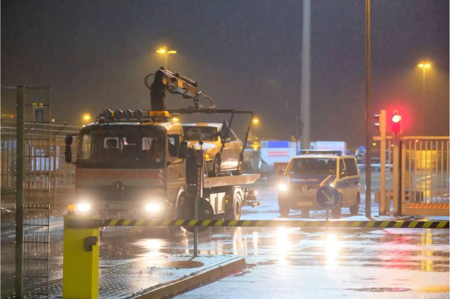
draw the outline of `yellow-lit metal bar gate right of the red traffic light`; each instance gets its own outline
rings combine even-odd
[[[400,138],[401,215],[449,216],[448,136]]]

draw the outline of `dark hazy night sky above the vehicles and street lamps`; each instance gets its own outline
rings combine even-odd
[[[372,1],[372,108],[400,109],[419,133],[426,59],[427,134],[449,133],[449,3]],[[312,1],[311,137],[365,138],[365,1]],[[143,78],[168,69],[198,81],[219,108],[255,109],[255,133],[286,139],[300,113],[302,1],[2,0],[2,86],[51,86],[56,123],[83,112],[149,109]],[[190,101],[171,95],[168,106]],[[222,121],[220,119],[219,121]],[[375,134],[378,134],[376,131]]]

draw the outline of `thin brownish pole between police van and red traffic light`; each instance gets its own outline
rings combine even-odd
[[[370,0],[366,0],[366,217],[371,216]],[[384,141],[381,141],[384,142]],[[381,200],[381,199],[380,199]]]

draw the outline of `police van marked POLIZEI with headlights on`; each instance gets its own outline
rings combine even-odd
[[[301,210],[308,217],[310,210],[323,210],[316,202],[317,191],[322,186],[336,188],[340,202],[332,210],[333,218],[341,216],[341,209],[358,213],[360,206],[360,175],[353,156],[340,151],[300,151],[287,165],[278,186],[279,212],[282,217],[290,209]]]

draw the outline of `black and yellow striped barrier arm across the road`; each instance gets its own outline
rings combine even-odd
[[[184,220],[184,219],[69,219],[69,228],[104,226],[210,226],[300,228],[449,228],[449,221],[304,221],[304,220]]]

